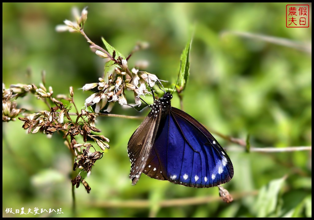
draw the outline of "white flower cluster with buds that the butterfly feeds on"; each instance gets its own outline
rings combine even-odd
[[[139,67],[147,67],[147,61],[141,61],[136,63],[137,68],[132,68],[131,71],[128,68],[127,60],[132,55],[140,49],[146,49],[148,47],[147,43],[137,43],[132,53],[125,59],[122,55],[116,58],[117,53],[112,50],[109,53],[105,49],[93,43],[87,35],[84,33],[83,24],[87,18],[87,10],[83,9],[81,16],[79,16],[78,9],[73,9],[73,15],[76,18],[76,22],[71,22],[65,20],[65,25],[58,25],[56,27],[57,31],[78,31],[84,35],[87,42],[90,43],[91,49],[96,49],[95,53],[106,59],[106,62],[113,61],[111,65],[115,65],[115,69],[108,74],[108,78],[99,78],[98,83],[89,83],[83,86],[83,90],[91,90],[97,87],[97,91],[90,95],[85,100],[85,106],[95,105],[95,113],[99,113],[103,110],[107,103],[106,111],[110,112],[114,102],[118,102],[120,105],[127,105],[127,99],[125,95],[126,90],[133,90],[135,105],[141,105],[140,96],[145,96],[146,94],[151,94],[151,90],[155,83],[160,83],[160,80],[156,75],[150,74],[148,72],[139,71]],[[149,88],[149,89],[148,89]]]

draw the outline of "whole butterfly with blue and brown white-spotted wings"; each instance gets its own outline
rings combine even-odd
[[[171,107],[171,99],[166,92],[154,100],[128,142],[132,184],[142,173],[188,187],[215,187],[230,181],[233,166],[227,153],[197,120]]]

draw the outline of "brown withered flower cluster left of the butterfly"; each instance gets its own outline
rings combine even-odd
[[[102,151],[109,149],[109,145],[107,144],[109,142],[108,138],[103,135],[93,134],[93,132],[100,132],[100,130],[95,127],[96,114],[87,112],[83,109],[74,114],[69,113],[71,108],[64,105],[60,100],[68,101],[75,107],[72,87],[70,87],[70,96],[56,95],[55,98],[53,97],[52,88],[49,87],[46,89],[43,83],[40,84],[39,88],[35,85],[16,84],[11,85],[11,89],[9,90],[5,90],[3,85],[3,120],[5,116],[6,120],[9,120],[9,113],[7,112],[9,106],[11,106],[11,115],[13,115],[13,113],[18,115],[21,111],[16,110],[16,104],[9,100],[26,95],[27,92],[33,93],[38,99],[45,100],[45,103],[49,106],[50,110],[38,111],[33,114],[25,113],[23,118],[19,117],[19,120],[24,121],[22,127],[27,129],[28,133],[41,132],[48,136],[52,136],[56,131],[62,132],[63,138],[65,139],[65,145],[68,146],[75,156],[77,156],[74,161],[73,169],[76,170],[76,168],[80,168],[82,169],[81,171],[87,172],[89,175],[92,166],[95,164],[96,160],[102,158],[103,153],[96,151],[87,141],[94,141]],[[53,104],[54,106],[52,107],[50,104]],[[72,119],[71,115],[75,115],[76,117]],[[78,136],[82,137],[83,143],[77,141]],[[94,152],[90,151],[91,147],[94,148]],[[80,174],[73,180],[77,187],[79,186],[78,181],[83,183],[88,192],[90,191],[89,185],[84,181]],[[75,184],[73,183],[73,186]]]

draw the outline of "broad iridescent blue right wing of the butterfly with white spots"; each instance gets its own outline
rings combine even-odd
[[[160,169],[160,171],[159,171]],[[214,187],[233,177],[229,156],[197,120],[171,107],[161,118],[143,171],[190,187]]]

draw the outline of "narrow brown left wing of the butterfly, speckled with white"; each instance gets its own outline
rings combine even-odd
[[[130,179],[136,184],[148,160],[148,154],[153,146],[161,111],[157,116],[149,114],[138,126],[127,144],[127,152],[131,161]]]

